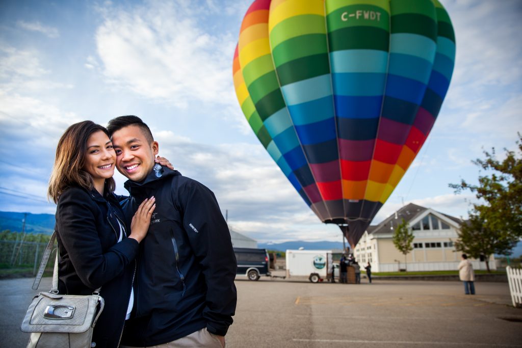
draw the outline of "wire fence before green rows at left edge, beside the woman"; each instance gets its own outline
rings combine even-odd
[[[38,271],[47,243],[25,241],[0,241],[0,268],[2,269],[31,269],[33,275]],[[56,246],[49,259],[56,257]],[[49,262],[46,270],[53,269],[53,262]]]

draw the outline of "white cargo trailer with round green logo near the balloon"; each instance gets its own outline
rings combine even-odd
[[[308,277],[312,283],[331,278],[331,250],[287,250],[287,278]]]

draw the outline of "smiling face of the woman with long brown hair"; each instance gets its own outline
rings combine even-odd
[[[111,139],[101,130],[92,133],[87,140],[83,170],[92,176],[95,183],[103,182],[114,175],[114,163],[116,152]]]

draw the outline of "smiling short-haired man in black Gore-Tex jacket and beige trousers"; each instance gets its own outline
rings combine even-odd
[[[129,180],[122,202],[131,217],[156,198],[147,238],[140,244],[135,305],[125,323],[127,346],[224,347],[236,306],[236,260],[216,197],[204,185],[155,164],[159,144],[136,116],[108,126],[116,167]],[[128,220],[128,219],[127,219]]]

